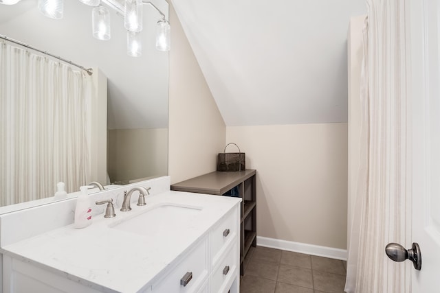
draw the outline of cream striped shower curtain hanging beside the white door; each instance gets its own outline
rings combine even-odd
[[[385,254],[389,242],[410,244],[406,180],[406,7],[367,0],[362,65],[361,148],[346,292],[409,292],[410,266]]]

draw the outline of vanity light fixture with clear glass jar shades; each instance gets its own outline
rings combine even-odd
[[[0,0],[3,4],[15,4],[20,0]],[[161,18],[157,21],[156,49],[159,51],[170,50],[170,23],[166,21],[162,13],[153,3],[146,0],[125,0],[121,5],[117,0],[78,0],[86,5],[94,6],[92,9],[92,31],[93,36],[98,40],[109,40],[110,14],[109,10],[102,5],[104,3],[118,14],[124,16],[124,27],[127,30],[127,54],[129,56],[142,56],[142,43],[140,32],[142,32],[142,14],[144,4],[151,5]],[[51,19],[62,19],[64,0],[39,0],[39,10]]]

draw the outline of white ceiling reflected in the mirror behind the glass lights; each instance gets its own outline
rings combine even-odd
[[[168,19],[168,3],[151,0]],[[111,40],[91,35],[91,7],[64,1],[61,20],[48,19],[38,0],[0,4],[0,34],[28,43],[84,67],[99,67],[108,78],[108,127],[166,128],[168,126],[168,53],[155,49],[158,12],[144,7],[142,57],[126,54],[124,20],[111,10]],[[107,109],[104,109],[107,110]]]

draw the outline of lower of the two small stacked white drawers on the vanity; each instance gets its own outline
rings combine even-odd
[[[239,261],[236,246],[231,246],[230,250],[221,259],[219,266],[214,270],[211,277],[211,292],[228,292],[230,285],[237,274]]]

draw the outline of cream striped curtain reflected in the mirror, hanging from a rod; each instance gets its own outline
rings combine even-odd
[[[89,77],[0,43],[0,206],[87,184]]]

